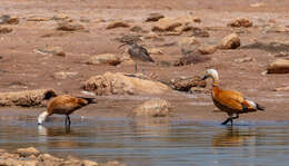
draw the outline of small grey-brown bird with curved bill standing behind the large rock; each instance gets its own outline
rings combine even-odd
[[[128,50],[130,58],[136,62],[136,71],[138,71],[138,65],[137,62],[155,62],[155,60],[150,57],[148,50],[142,47],[141,45],[138,45],[136,41],[126,41],[124,43],[120,45],[120,47],[129,45],[130,48]],[[142,68],[143,71],[143,68]]]

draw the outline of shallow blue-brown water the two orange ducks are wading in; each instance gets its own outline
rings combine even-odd
[[[34,146],[57,156],[128,165],[288,165],[289,123],[169,121],[168,119],[72,117],[67,130],[57,116],[43,126],[36,115],[3,115],[0,148]],[[53,121],[53,123],[52,123]]]

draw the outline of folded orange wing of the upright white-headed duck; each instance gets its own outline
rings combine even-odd
[[[233,109],[233,110],[243,109],[245,99],[243,99],[243,95],[239,91],[221,90],[215,95],[213,99],[229,109]]]

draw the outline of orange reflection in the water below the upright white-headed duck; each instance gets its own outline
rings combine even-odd
[[[250,139],[255,139],[255,135],[249,129],[239,129],[227,127],[223,133],[218,134],[212,138],[213,147],[231,147],[246,146],[250,144]]]

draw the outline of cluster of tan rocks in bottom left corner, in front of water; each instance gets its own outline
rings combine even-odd
[[[92,160],[78,159],[72,156],[59,158],[50,154],[40,153],[34,147],[19,148],[13,153],[0,149],[1,166],[126,166],[119,162],[99,164]]]

